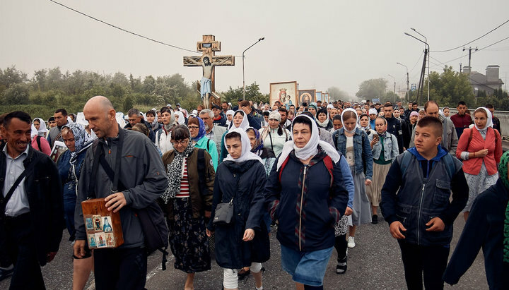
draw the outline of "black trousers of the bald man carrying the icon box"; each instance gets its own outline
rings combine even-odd
[[[144,289],[147,256],[144,248],[94,250],[95,288]]]

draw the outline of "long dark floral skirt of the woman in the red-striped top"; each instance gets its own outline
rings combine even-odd
[[[189,198],[175,198],[174,216],[168,224],[170,248],[175,255],[175,269],[186,273],[211,269],[209,239],[206,236],[205,218],[192,217]]]

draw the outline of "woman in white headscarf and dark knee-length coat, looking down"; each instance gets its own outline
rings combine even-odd
[[[215,233],[216,262],[223,268],[224,289],[238,289],[238,269],[251,267],[262,289],[262,262],[269,260],[269,234],[262,222],[267,181],[262,159],[251,152],[245,128],[230,128],[224,137],[228,150],[214,181],[207,235]],[[230,224],[213,223],[219,203],[233,204]]]

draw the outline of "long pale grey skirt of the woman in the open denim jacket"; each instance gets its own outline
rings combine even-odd
[[[350,167],[353,176],[353,187],[355,194],[353,195],[353,214],[352,224],[369,224],[371,222],[371,205],[368,195],[365,193],[365,175],[363,172],[356,173],[353,167]]]

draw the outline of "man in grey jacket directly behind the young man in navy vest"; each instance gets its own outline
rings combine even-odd
[[[440,143],[440,145],[445,149],[445,151],[456,156],[458,138],[454,123],[452,123],[450,119],[438,114],[438,104],[435,101],[428,101],[424,104],[424,113],[426,113],[426,116],[435,117],[442,122],[443,134],[442,143]],[[414,131],[411,134],[410,147],[414,147],[415,130],[416,127],[414,127]]]

